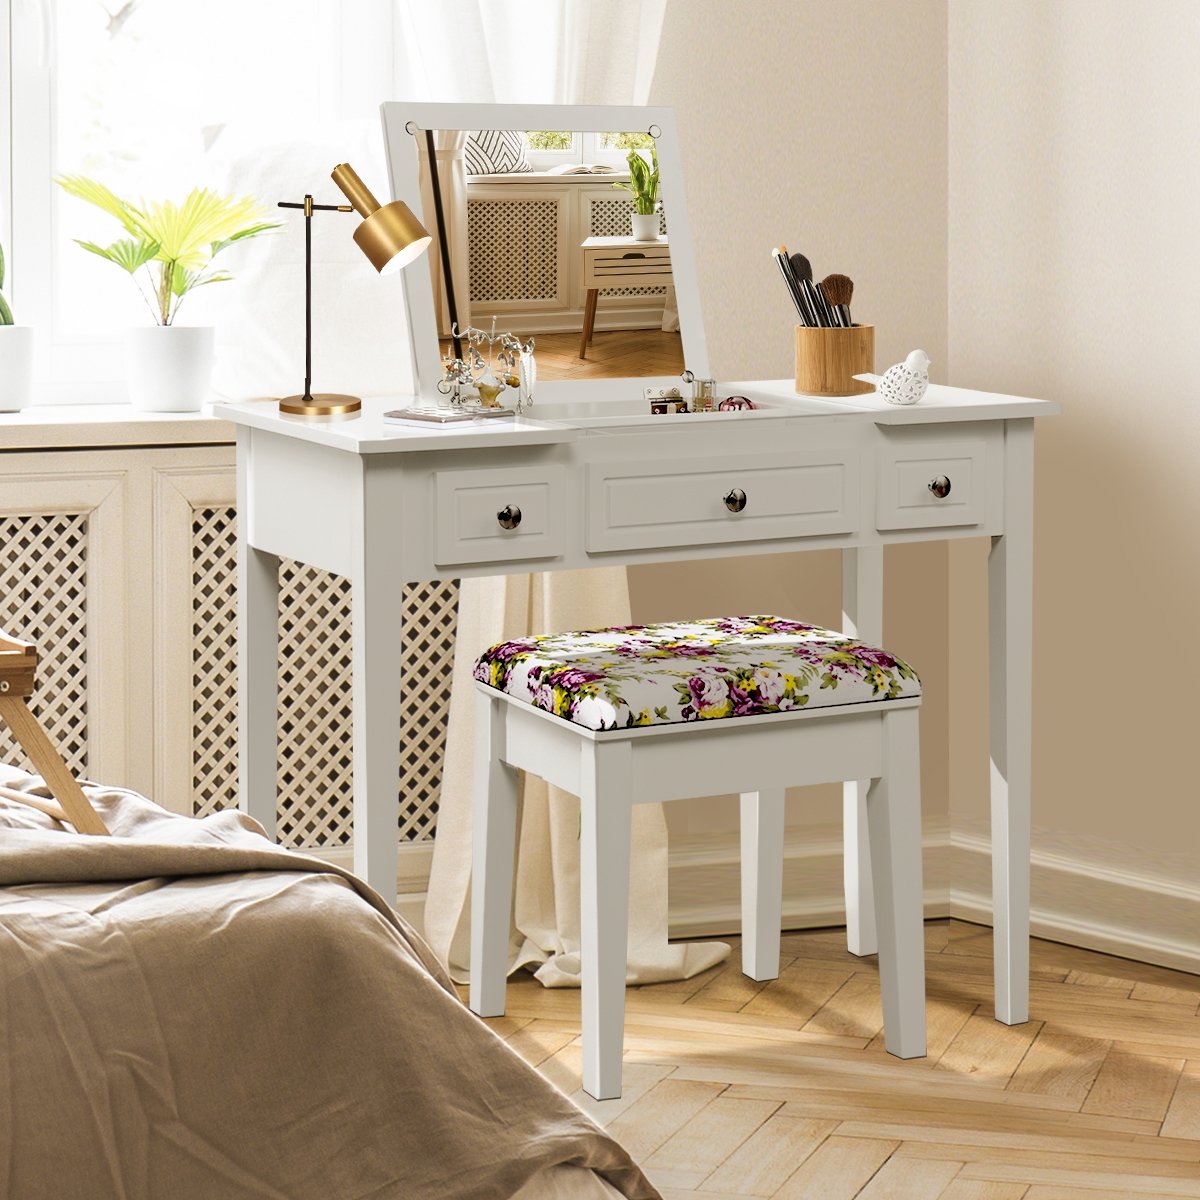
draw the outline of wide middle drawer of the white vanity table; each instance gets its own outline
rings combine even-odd
[[[858,528],[856,450],[798,450],[737,458],[593,462],[587,548],[653,550],[852,533]],[[740,512],[725,497],[745,493]]]

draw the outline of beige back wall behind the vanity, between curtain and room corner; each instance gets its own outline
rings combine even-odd
[[[791,376],[794,312],[772,246],[856,283],[878,365],[914,346],[946,364],[946,5],[668,0],[652,103],[674,107],[719,378]],[[926,811],[947,809],[943,546],[890,550],[889,647],[911,658]],[[838,626],[834,553],[631,572],[635,619],[780,612]],[[816,791],[816,790],[815,790]],[[840,793],[793,798],[793,821],[840,820]],[[731,827],[732,804],[672,811],[672,833]]]

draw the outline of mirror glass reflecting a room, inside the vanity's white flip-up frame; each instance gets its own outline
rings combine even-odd
[[[457,325],[534,338],[542,380],[679,374],[649,133],[422,131],[418,151],[443,360],[469,354]]]

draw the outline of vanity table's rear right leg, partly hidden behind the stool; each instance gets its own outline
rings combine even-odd
[[[883,547],[859,546],[841,552],[841,628],[865,642],[883,642]],[[875,895],[871,892],[871,842],[868,836],[866,790],[870,780],[842,784],[845,830],[842,872],[846,890],[846,949],[874,954]]]

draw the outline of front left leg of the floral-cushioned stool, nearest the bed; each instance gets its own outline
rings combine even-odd
[[[583,1091],[620,1096],[629,958],[629,839],[632,826],[631,746],[582,748],[580,773],[580,942],[583,1006]]]

